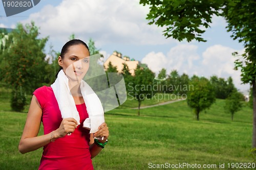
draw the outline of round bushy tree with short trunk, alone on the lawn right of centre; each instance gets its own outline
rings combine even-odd
[[[199,120],[199,113],[215,102],[214,87],[204,77],[193,77],[189,85],[193,85],[193,89],[187,91],[187,105],[194,109]]]

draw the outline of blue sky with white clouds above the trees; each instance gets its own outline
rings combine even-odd
[[[39,4],[22,13],[6,17],[0,4],[0,27],[15,28],[32,20],[40,28],[40,37],[49,36],[50,46],[60,52],[71,34],[85,42],[92,38],[97,48],[108,58],[113,51],[148,65],[156,75],[165,68],[167,74],[177,70],[180,75],[216,75],[232,77],[235,86],[248,93],[249,85],[241,84],[241,72],[234,70],[232,52],[242,53],[243,44],[232,40],[226,31],[224,18],[214,16],[211,27],[202,35],[207,42],[177,41],[163,36],[164,28],[148,25],[145,19],[148,6],[139,0],[41,0]]]

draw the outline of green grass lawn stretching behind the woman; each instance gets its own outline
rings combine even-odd
[[[0,169],[37,169],[42,149],[25,155],[17,150],[26,114],[10,111],[8,102],[2,105],[8,100],[3,96],[0,100]],[[187,162],[218,166],[225,163],[225,168],[208,168],[223,170],[231,169],[227,163],[253,162],[249,152],[252,109],[244,107],[231,122],[231,115],[224,112],[224,103],[217,100],[209,110],[200,113],[199,121],[186,101],[141,109],[140,116],[137,110],[129,108],[107,112],[109,143],[93,159],[95,169],[150,169],[150,162]]]

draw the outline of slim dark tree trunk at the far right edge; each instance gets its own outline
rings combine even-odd
[[[252,81],[252,98],[253,98],[253,130],[252,130],[252,148],[256,148],[256,81]]]

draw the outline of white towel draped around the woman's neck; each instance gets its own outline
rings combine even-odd
[[[55,98],[58,102],[62,118],[73,117],[80,125],[80,116],[75,106],[75,101],[69,89],[69,79],[61,69],[57,79],[51,85]],[[90,129],[90,133],[98,131],[98,127],[104,122],[104,111],[102,104],[93,89],[83,80],[80,90],[86,103],[89,118],[84,120],[83,128]]]

